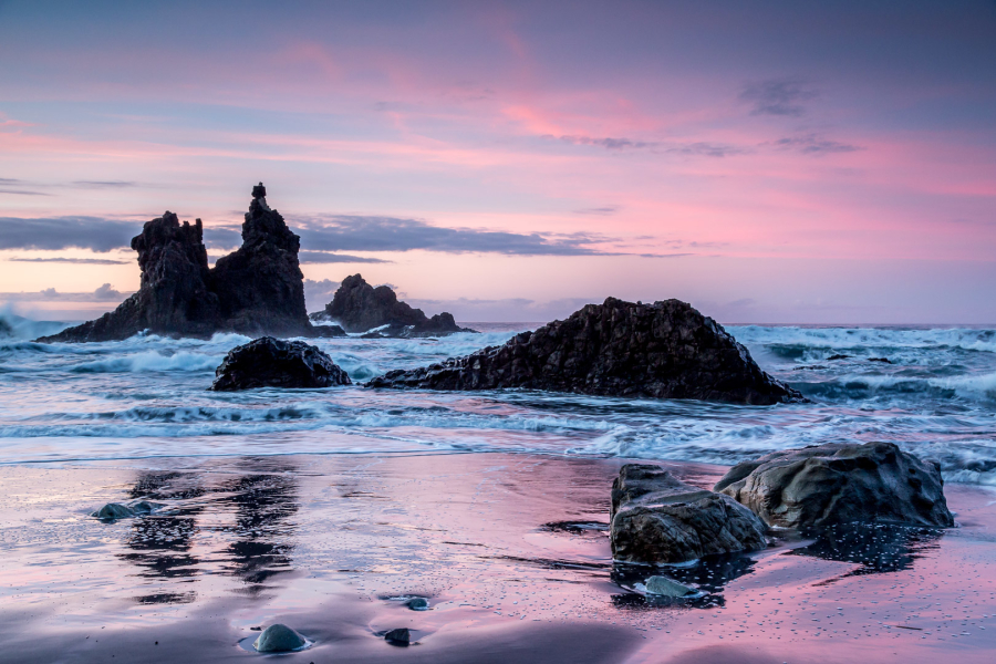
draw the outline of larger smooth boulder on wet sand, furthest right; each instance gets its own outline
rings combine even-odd
[[[893,443],[830,443],[776,452],[737,464],[715,489],[778,528],[954,525],[940,465],[924,464]]]

